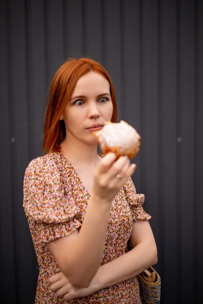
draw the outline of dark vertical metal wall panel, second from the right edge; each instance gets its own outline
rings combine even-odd
[[[192,303],[194,290],[194,1],[181,1],[180,5],[180,270],[181,303]],[[189,149],[188,149],[189,147]],[[187,267],[185,267],[187,265]],[[191,273],[188,277],[187,273]],[[191,290],[185,292],[186,286]]]

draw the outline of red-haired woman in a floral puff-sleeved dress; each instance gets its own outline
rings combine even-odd
[[[130,177],[135,164],[101,157],[92,135],[116,118],[113,84],[99,63],[70,59],[58,69],[44,127],[48,153],[24,179],[40,267],[35,303],[141,303],[136,275],[157,261],[151,217]],[[134,248],[125,253],[129,238]]]

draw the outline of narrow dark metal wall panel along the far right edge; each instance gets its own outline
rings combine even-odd
[[[196,1],[196,79],[194,154],[194,260],[196,303],[203,299],[203,1]]]

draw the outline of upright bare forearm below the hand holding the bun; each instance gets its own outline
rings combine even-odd
[[[90,198],[85,219],[75,243],[74,256],[69,259],[71,263],[74,263],[74,267],[77,265],[78,272],[83,271],[81,277],[86,277],[89,283],[101,264],[111,209],[111,203],[106,206],[102,204],[98,208],[98,204],[95,204],[94,200],[94,198]],[[69,264],[71,263],[69,262]],[[67,268],[70,269],[70,267],[71,265],[68,265]]]

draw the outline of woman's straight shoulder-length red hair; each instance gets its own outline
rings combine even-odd
[[[66,137],[64,120],[60,120],[67,102],[70,100],[79,78],[89,71],[101,74],[110,85],[113,103],[111,121],[117,121],[117,102],[113,83],[106,70],[98,62],[89,58],[68,59],[55,73],[48,92],[48,107],[44,124],[43,152],[59,152],[60,144]]]

